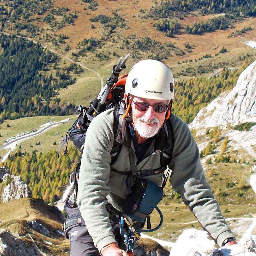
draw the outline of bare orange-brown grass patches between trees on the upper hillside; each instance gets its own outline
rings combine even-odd
[[[240,30],[244,27],[251,26],[252,30],[246,33],[245,38],[238,36],[228,38],[228,36],[232,33],[230,30],[217,30],[212,33],[205,33],[201,36],[182,33],[180,35],[176,35],[175,38],[170,38],[166,37],[164,33],[157,31],[156,28],[153,27],[153,24],[156,23],[156,21],[150,18],[144,19],[141,17],[140,10],[150,8],[150,6],[153,5],[152,1],[138,0],[124,2],[121,0],[96,0],[95,2],[98,3],[97,10],[91,11],[89,9],[84,10],[84,7],[86,8],[87,6],[85,3],[74,1],[53,1],[54,7],[65,6],[69,8],[68,12],[76,11],[78,13],[78,18],[75,19],[75,26],[69,25],[56,32],[56,38],[62,33],[69,36],[66,42],[71,46],[71,51],[74,51],[77,44],[84,38],[102,38],[104,32],[103,28],[100,26],[100,23],[95,22],[93,24],[95,28],[92,29],[90,26],[92,22],[89,19],[99,14],[113,17],[113,11],[117,12],[127,22],[127,26],[122,31],[120,29],[116,31],[116,34],[113,35],[114,38],[116,38],[116,36],[120,33],[119,35],[124,37],[129,35],[136,35],[138,38],[148,36],[152,40],[156,40],[160,43],[171,43],[180,48],[184,48],[183,45],[185,43],[194,45],[192,52],[186,52],[186,55],[184,56],[173,55],[169,58],[169,60],[165,60],[166,64],[169,66],[175,66],[178,61],[181,62],[183,60],[198,59],[202,57],[203,54],[214,55],[223,46],[228,49],[230,52],[229,55],[246,55],[246,52],[250,52],[252,49],[249,49],[250,47],[244,44],[244,42],[246,40],[256,40],[256,20],[253,18],[246,19],[243,22],[236,24],[236,28],[234,28],[234,30]],[[213,15],[188,15],[184,20],[180,20],[180,24],[181,27],[184,28],[186,24],[193,24],[194,22],[201,20],[208,20],[212,17]],[[40,23],[39,26],[43,27],[44,29],[47,28],[47,24],[44,22]],[[107,45],[110,45],[110,40],[111,38],[106,41]],[[115,47],[115,44],[113,47]],[[112,50],[114,49],[112,48]]]

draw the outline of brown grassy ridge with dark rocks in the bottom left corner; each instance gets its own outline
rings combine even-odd
[[[42,199],[20,198],[0,204],[0,219],[0,255],[66,255],[69,251],[61,212]]]

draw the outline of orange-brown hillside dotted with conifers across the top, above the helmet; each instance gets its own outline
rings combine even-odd
[[[133,63],[158,58],[172,67],[174,74],[194,76],[200,70],[214,72],[228,63],[239,66],[244,56],[253,55],[253,49],[244,42],[256,39],[252,0],[244,2],[246,8],[238,1],[230,4],[220,0],[10,2],[0,3],[2,31],[32,38],[98,70],[102,65],[111,67],[115,56],[131,52]],[[222,26],[209,28],[218,19],[228,22],[221,20]],[[185,29],[195,25],[196,31]],[[214,57],[223,46],[229,54]],[[195,70],[185,72],[187,69]]]

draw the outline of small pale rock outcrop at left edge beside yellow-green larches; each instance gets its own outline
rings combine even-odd
[[[7,184],[1,196],[3,203],[12,199],[20,199],[23,197],[32,197],[32,192],[28,185],[20,178],[20,176],[5,173],[3,181]]]

